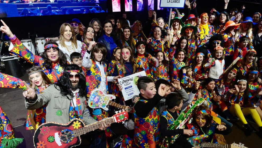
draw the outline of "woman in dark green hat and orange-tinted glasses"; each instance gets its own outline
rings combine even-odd
[[[192,61],[193,56],[195,56],[196,48],[202,46],[210,39],[205,35],[205,38],[200,41],[200,38],[197,38],[195,34],[197,33],[197,27],[191,26],[190,24],[185,25],[181,29],[181,35],[186,36],[188,38],[188,53],[190,54],[189,62]]]

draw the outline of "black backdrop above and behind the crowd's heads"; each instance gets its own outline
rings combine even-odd
[[[191,1],[191,0],[190,0]],[[246,0],[230,0],[228,4],[228,12],[233,7],[240,9],[244,4],[246,9],[244,10],[244,17],[251,16],[254,12],[261,11],[261,0],[252,1]],[[256,2],[256,3],[254,3]],[[260,2],[260,3],[258,3]],[[145,21],[147,18],[147,0],[144,0],[144,11],[137,11],[136,0],[133,0],[133,12],[126,12],[127,19],[130,24],[133,24],[135,20]],[[154,3],[155,10],[157,9],[157,0]],[[203,12],[209,13],[211,8],[215,8],[219,12],[224,7],[224,0],[198,0],[197,11],[200,15]],[[83,25],[87,26],[92,18],[98,18],[103,22],[108,14],[113,14],[115,18],[119,18],[123,12],[125,12],[124,1],[121,0],[121,12],[112,13],[112,1],[107,0],[108,13],[87,13],[87,14],[72,14],[72,15],[50,15],[50,16],[27,16],[27,17],[8,17],[1,18],[10,27],[12,32],[19,39],[28,39],[28,33],[37,34],[38,37],[55,37],[59,36],[60,25],[72,18],[79,18]],[[185,9],[179,9],[179,12],[184,12]],[[166,18],[167,9],[158,10],[157,18]],[[1,24],[2,25],[2,24]]]

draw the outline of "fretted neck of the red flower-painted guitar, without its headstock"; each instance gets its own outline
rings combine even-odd
[[[83,128],[79,128],[79,129],[76,129],[74,130],[74,134],[75,134],[75,137],[77,136],[80,136],[80,135],[83,135],[85,133],[88,133],[90,131],[94,131],[98,128],[101,128],[102,127],[102,122],[105,122],[106,124],[108,123],[114,123],[115,120],[114,120],[114,117],[110,117],[110,118],[106,118],[106,119],[103,119],[101,121],[98,121],[98,122],[95,122],[95,123],[92,123],[92,124],[89,124]]]

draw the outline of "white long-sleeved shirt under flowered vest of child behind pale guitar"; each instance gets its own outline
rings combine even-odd
[[[92,67],[92,60],[90,59],[91,54],[88,54],[87,52],[85,52],[85,55],[83,57],[83,63],[82,66],[84,66],[87,69],[90,69]],[[97,66],[100,69],[100,73],[101,73],[101,83],[98,89],[102,90],[103,92],[106,92],[106,77],[107,77],[107,81],[108,82],[112,82],[115,81],[113,76],[106,76],[105,75],[105,70],[104,70],[104,66],[103,63],[101,62],[97,62],[95,61]]]

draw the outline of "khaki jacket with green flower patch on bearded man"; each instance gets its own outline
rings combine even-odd
[[[60,94],[59,86],[52,84],[42,91],[42,94],[37,95],[37,100],[34,103],[29,103],[28,99],[25,98],[25,107],[26,109],[34,110],[46,104],[46,122],[58,122],[65,124],[69,122],[69,108],[71,103],[71,96],[67,96],[69,99]],[[86,99],[84,97],[80,97],[80,100],[85,125],[97,122],[89,113],[85,103]]]

